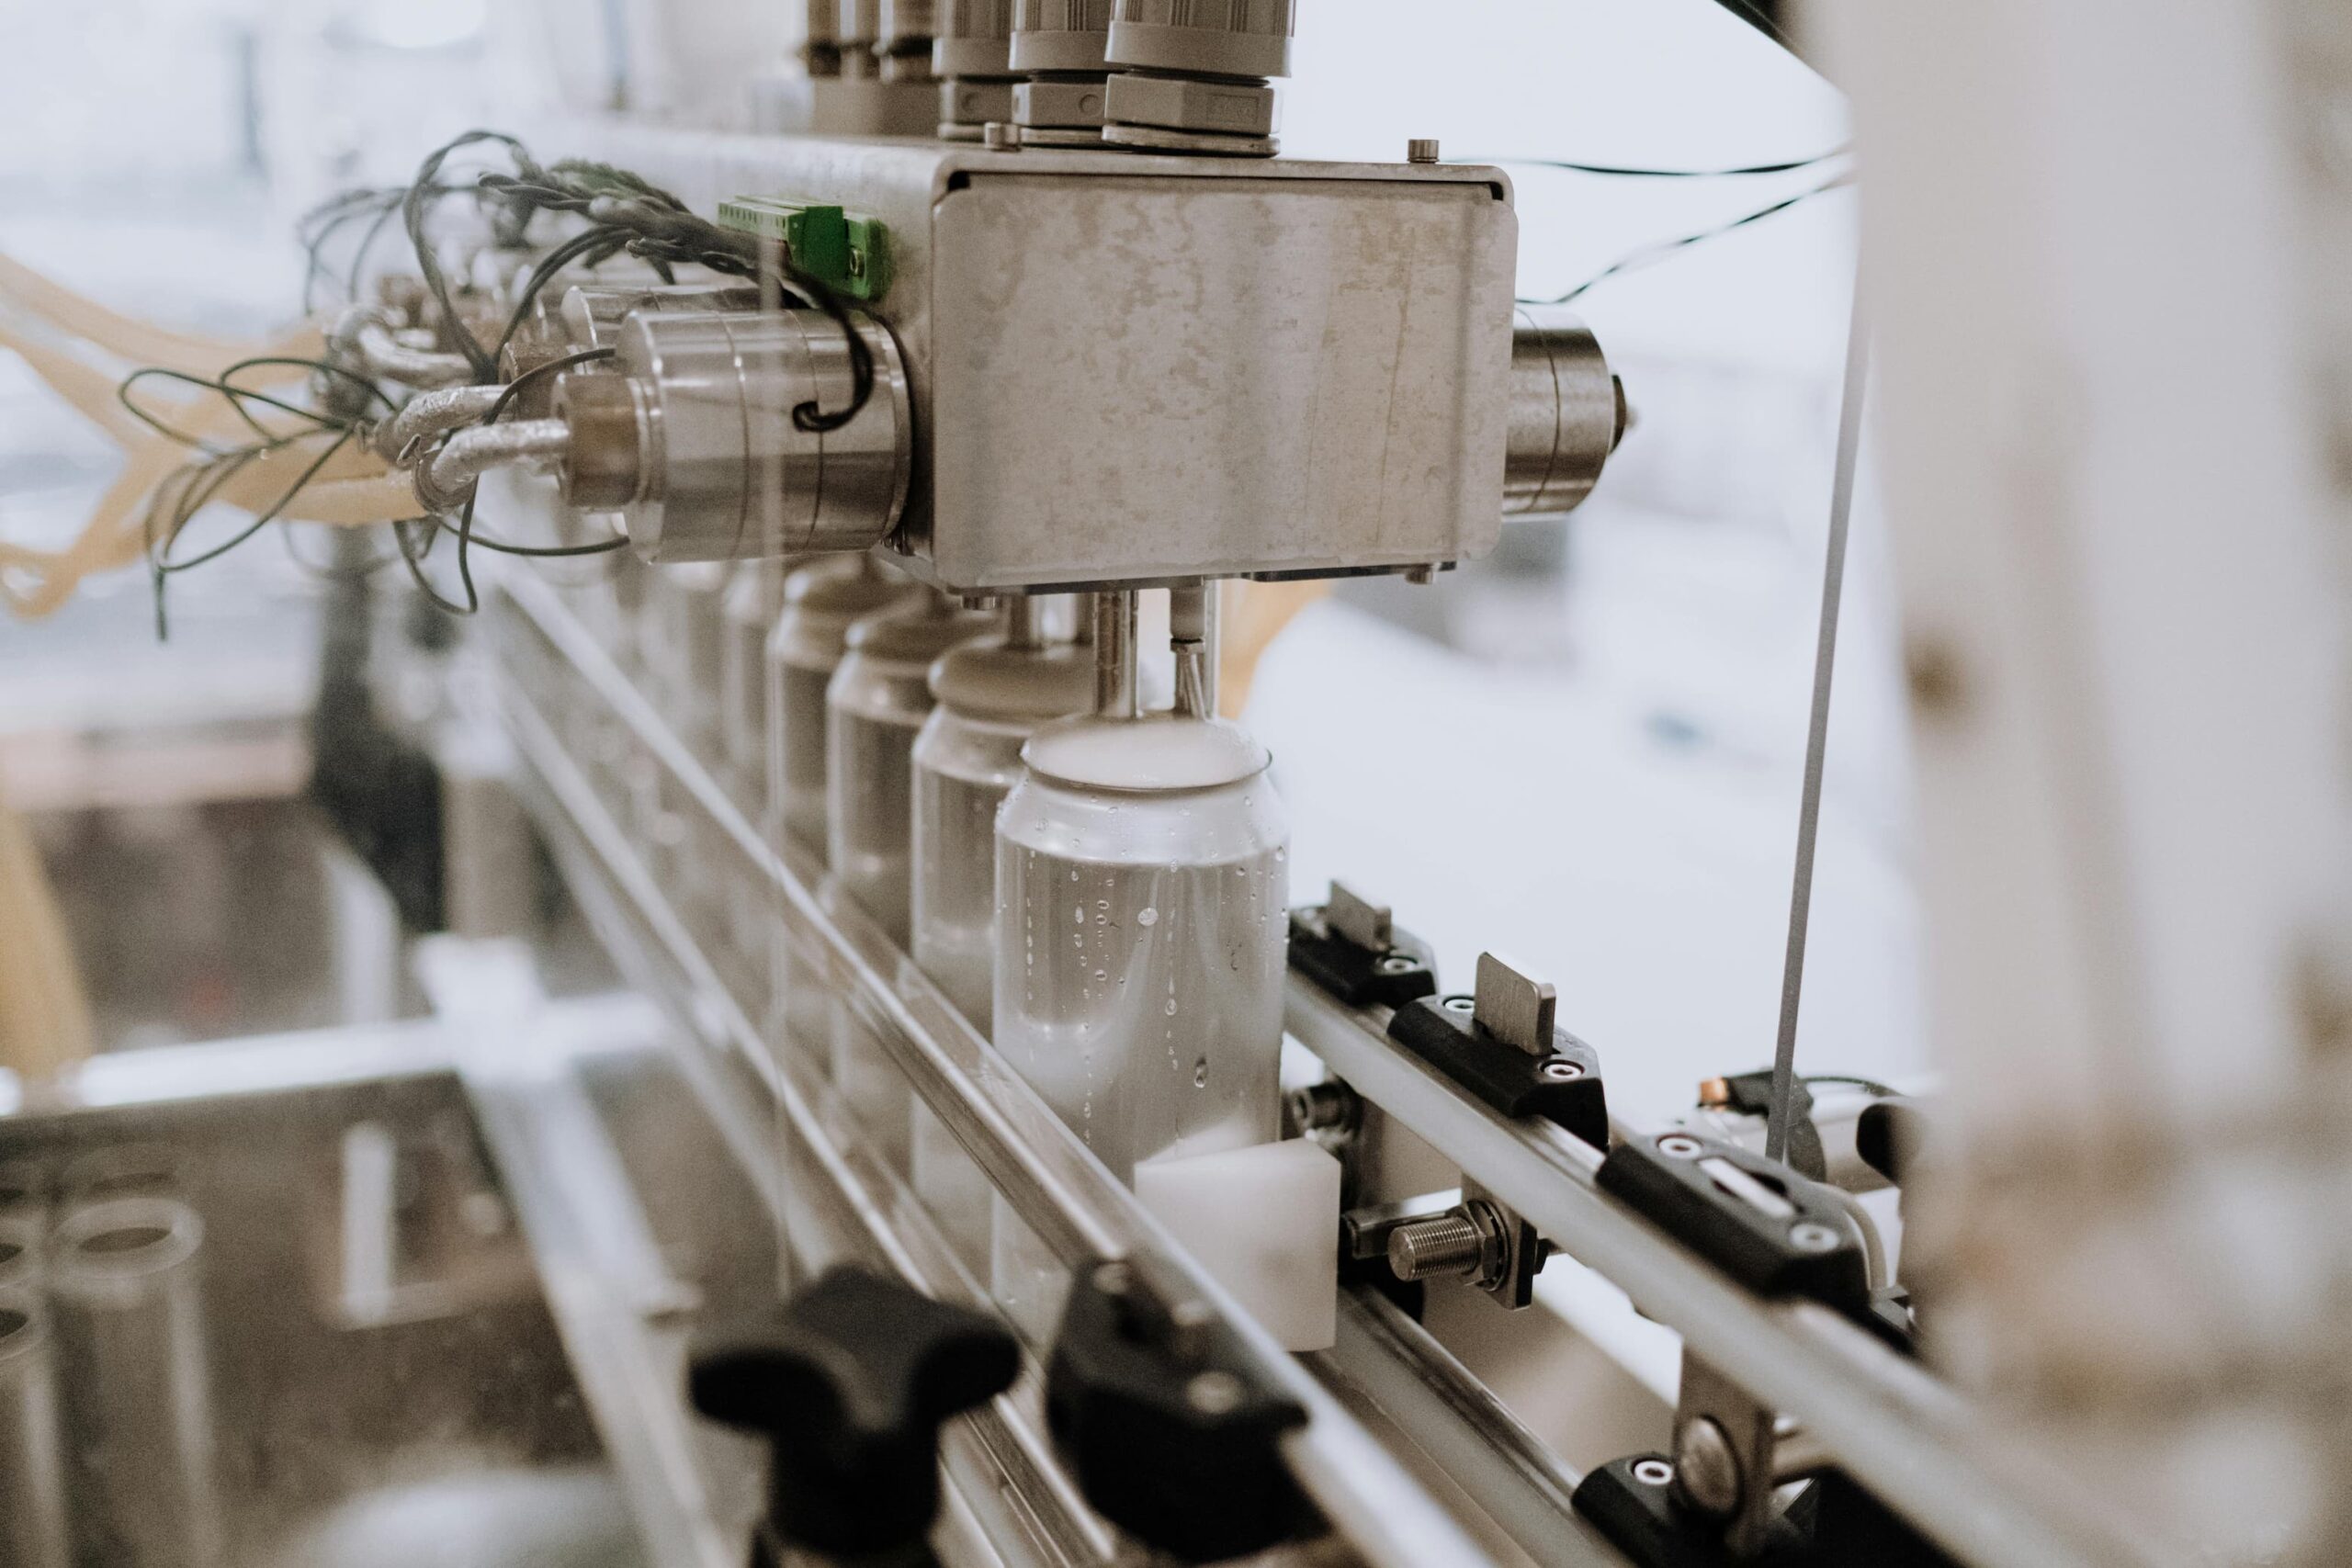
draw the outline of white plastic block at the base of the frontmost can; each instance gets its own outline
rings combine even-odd
[[[1284,1349],[1331,1349],[1338,1161],[1322,1145],[1150,1159],[1136,1197]]]

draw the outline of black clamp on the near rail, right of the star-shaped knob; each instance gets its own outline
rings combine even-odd
[[[1305,1408],[1207,1302],[1138,1262],[1070,1281],[1047,1363],[1047,1422],[1087,1502],[1188,1563],[1263,1552],[1312,1509],[1282,1460]]]

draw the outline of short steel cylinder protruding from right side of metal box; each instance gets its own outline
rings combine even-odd
[[[1564,306],[1515,306],[1503,515],[1576,510],[1625,435],[1625,393],[1599,339]]]

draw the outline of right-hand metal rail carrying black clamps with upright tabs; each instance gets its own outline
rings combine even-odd
[[[2133,1561],[2129,1528],[2063,1493],[1955,1389],[1825,1307],[1733,1286],[1592,1185],[1599,1152],[1512,1124],[1385,1037],[1385,1016],[1291,980],[1291,1037],[1465,1175],[1517,1208],[1635,1307],[1813,1439],[1889,1507],[1966,1563],[2056,1568]]]

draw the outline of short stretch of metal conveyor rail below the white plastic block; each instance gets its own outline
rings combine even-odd
[[[1538,1568],[1621,1561],[1576,1512],[1578,1474],[1378,1291],[1341,1291],[1338,1340],[1308,1363],[1376,1403]]]

